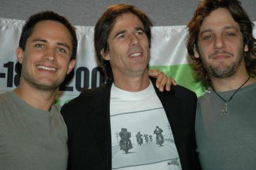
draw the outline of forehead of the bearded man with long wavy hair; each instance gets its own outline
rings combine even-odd
[[[231,26],[240,30],[240,26],[237,22],[235,22],[229,11],[225,8],[218,8],[204,18],[204,21],[200,27],[200,32],[207,29],[221,30],[227,26]]]

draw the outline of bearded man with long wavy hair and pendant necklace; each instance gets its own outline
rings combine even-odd
[[[256,40],[240,1],[201,1],[188,23],[188,54],[211,85],[198,98],[197,151],[203,169],[256,167]]]

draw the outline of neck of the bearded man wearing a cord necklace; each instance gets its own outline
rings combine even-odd
[[[211,84],[215,91],[229,91],[238,89],[248,79],[249,74],[244,68],[238,69],[237,72],[230,77],[217,78],[210,76]],[[244,86],[248,86],[256,81],[255,78],[250,78]],[[244,87],[242,86],[242,87]]]

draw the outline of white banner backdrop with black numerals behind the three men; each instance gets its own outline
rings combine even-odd
[[[18,47],[24,21],[0,18],[0,93],[15,89],[19,84],[15,64],[15,50]],[[61,105],[79,95],[83,89],[99,86],[100,77],[93,47],[92,26],[76,26],[78,55],[72,79],[60,88],[56,102]],[[254,37],[256,30],[254,29]],[[201,96],[206,87],[192,76],[191,60],[186,50],[187,30],[185,26],[155,26],[152,28],[150,68],[163,70]]]

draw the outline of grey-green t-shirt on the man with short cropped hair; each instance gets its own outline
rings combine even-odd
[[[0,169],[64,170],[68,139],[60,107],[30,106],[14,91],[0,94]]]

